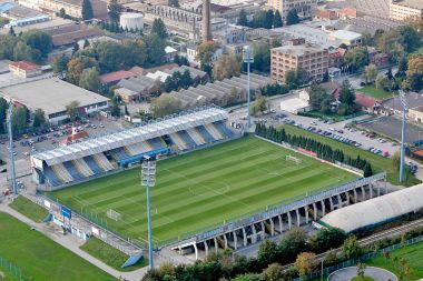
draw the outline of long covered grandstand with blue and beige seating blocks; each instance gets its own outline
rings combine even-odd
[[[227,112],[216,107],[191,110],[67,147],[31,155],[33,180],[60,187],[97,178],[140,162],[145,155],[185,152],[232,139]]]

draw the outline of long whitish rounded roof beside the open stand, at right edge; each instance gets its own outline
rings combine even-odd
[[[423,183],[333,211],[321,222],[346,232],[386,222],[423,208]]]

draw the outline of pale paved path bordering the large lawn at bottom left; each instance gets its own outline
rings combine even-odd
[[[63,248],[70,250],[71,252],[78,254],[86,261],[90,262],[91,264],[96,265],[97,268],[106,271],[110,275],[119,279],[119,278],[125,278],[128,281],[139,281],[142,279],[142,277],[147,273],[148,268],[142,268],[136,271],[131,272],[120,272],[117,271],[116,269],[110,268],[102,261],[91,257],[87,252],[82,251],[79,249],[79,245],[81,244],[80,240],[71,234],[68,235],[62,235],[58,232],[55,232],[55,229],[51,227],[46,225],[45,223],[37,223],[33,222],[32,220],[28,219],[23,214],[17,212],[16,210],[11,209],[7,203],[0,203],[0,211],[9,213],[10,215],[14,217],[16,219],[20,220],[21,222],[36,228],[38,231],[50,238],[52,241],[59,243]],[[125,280],[124,279],[124,280]]]

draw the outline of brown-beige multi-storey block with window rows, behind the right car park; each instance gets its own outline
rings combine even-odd
[[[302,68],[307,71],[311,80],[318,81],[327,71],[328,61],[327,49],[295,40],[288,46],[272,49],[272,79],[284,83],[286,72]]]

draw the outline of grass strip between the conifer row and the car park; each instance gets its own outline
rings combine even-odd
[[[353,145],[335,141],[331,138],[323,137],[323,136],[309,132],[307,130],[304,130],[304,129],[301,129],[301,128],[297,128],[294,126],[284,124],[283,128],[285,129],[285,131],[287,133],[312,138],[312,139],[315,139],[319,142],[326,143],[326,144],[331,145],[332,148],[341,149],[346,155],[356,158],[360,154],[360,157],[362,157],[362,158],[364,158],[371,162],[372,168],[373,168],[373,172],[386,171],[387,172],[387,181],[393,183],[393,184],[400,184],[400,182],[399,182],[400,172],[393,169],[393,167],[391,164],[391,159],[388,159],[388,158],[384,158],[384,157],[374,154],[374,153],[366,151],[366,150],[363,150],[363,149],[357,149]],[[411,175],[410,178],[406,179],[405,184],[407,187],[411,187],[411,185],[414,185],[417,183],[420,183],[420,180],[417,180],[414,175]]]

